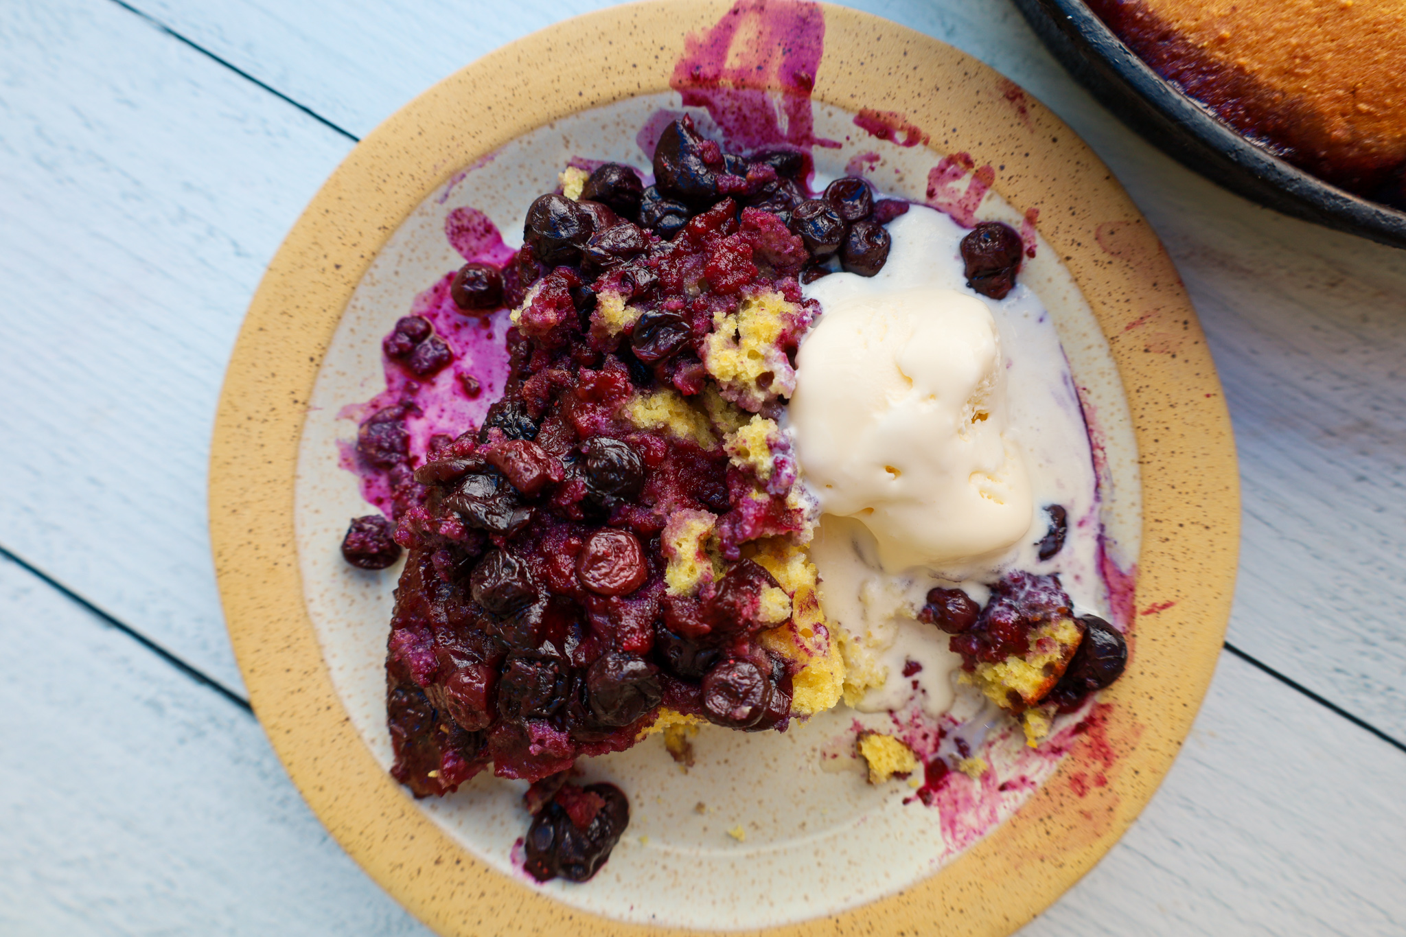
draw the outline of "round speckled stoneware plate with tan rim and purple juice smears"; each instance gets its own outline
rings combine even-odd
[[[346,518],[367,510],[337,466],[337,440],[356,428],[339,413],[384,386],[380,336],[457,266],[444,237],[456,208],[510,232],[568,157],[644,166],[640,128],[686,107],[735,143],[828,140],[814,150],[821,171],[862,170],[955,218],[1038,230],[1022,281],[1054,319],[1092,430],[1132,663],[1080,730],[1047,754],[997,746],[990,777],[955,775],[936,808],[904,805],[901,784],[817,768],[848,712],[782,736],[704,729],[688,774],[658,740],[593,760],[588,774],[628,791],[630,830],[592,882],[538,886],[512,863],[520,787],[478,778],[416,802],[385,774],[394,570],[336,556]],[[730,124],[742,110],[751,119]],[[769,129],[758,112],[776,115]],[[1237,514],[1195,313],[1097,157],[939,42],[844,8],[756,0],[560,24],[370,135],[254,296],[211,465],[221,591],[254,709],[328,829],[447,934],[814,933],[817,919],[837,933],[1010,933],[1108,850],[1170,766],[1220,646]]]

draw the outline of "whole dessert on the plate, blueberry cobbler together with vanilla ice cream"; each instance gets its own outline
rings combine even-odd
[[[976,225],[953,260],[965,291],[898,288],[890,251],[952,222],[859,177],[820,194],[813,180],[806,152],[728,153],[688,117],[664,131],[652,184],[567,167],[510,261],[436,287],[465,317],[512,309],[482,424],[411,458],[413,393],[361,421],[394,528],[357,518],[343,555],[384,569],[406,551],[392,774],[416,797],[488,766],[527,781],[538,881],[591,878],[628,823],[617,788],[571,782],[582,756],[662,732],[682,757],[704,723],[785,732],[842,701],[897,708],[910,679],[941,708],[953,669],[1035,745],[1122,670],[1119,632],[1076,614],[1052,566],[1066,510],[1035,502],[1005,430],[977,294],[1017,287],[1021,236]],[[423,316],[382,350],[412,378],[456,365]],[[994,559],[1031,537],[1038,572]],[[855,746],[873,782],[921,766],[889,735]]]

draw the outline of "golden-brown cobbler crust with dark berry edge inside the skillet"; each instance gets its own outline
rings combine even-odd
[[[1406,1],[1088,6],[1250,140],[1350,192],[1406,208]]]

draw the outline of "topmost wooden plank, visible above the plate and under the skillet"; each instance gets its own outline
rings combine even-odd
[[[495,44],[586,3],[141,0],[354,132]],[[1406,738],[1406,253],[1256,208],[1143,143],[1081,91],[1008,0],[853,4],[988,62],[1109,162],[1175,258],[1240,444],[1244,556],[1230,636]],[[512,21],[509,25],[508,21]],[[463,22],[463,31],[446,31]],[[454,37],[453,44],[444,35]]]

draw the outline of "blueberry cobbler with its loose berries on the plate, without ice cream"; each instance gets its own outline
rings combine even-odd
[[[412,458],[408,393],[357,441],[394,527],[357,518],[343,553],[384,569],[408,552],[387,656],[392,774],[416,797],[488,766],[530,782],[524,868],[540,881],[591,878],[628,823],[619,789],[571,782],[576,759],[652,732],[676,750],[704,722],[786,730],[884,680],[823,611],[810,544],[825,494],[801,478],[789,406],[821,320],[803,291],[879,274],[910,205],[858,177],[815,194],[804,152],[727,153],[688,117],[652,174],[568,167],[509,261],[449,281],[464,317],[512,310],[506,386],[481,426]],[[962,256],[970,288],[1000,299],[1019,236],[980,225]],[[420,316],[382,350],[412,391],[453,362]],[[1121,670],[1116,629],[1076,617],[1056,575],[1008,572],[984,607],[935,587],[914,617],[952,635],[963,679],[1032,739]]]

